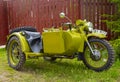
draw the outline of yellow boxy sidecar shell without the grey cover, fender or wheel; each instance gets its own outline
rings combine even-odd
[[[44,53],[61,55],[83,51],[84,40],[82,40],[80,34],[76,32],[43,32],[42,39]]]

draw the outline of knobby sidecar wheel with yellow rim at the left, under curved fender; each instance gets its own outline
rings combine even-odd
[[[26,57],[21,50],[21,44],[16,36],[12,36],[7,44],[7,59],[8,64],[15,70],[21,70],[23,67]]]

